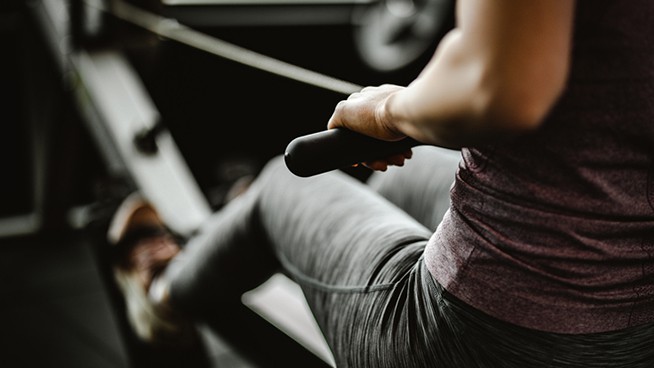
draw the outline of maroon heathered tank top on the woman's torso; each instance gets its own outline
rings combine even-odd
[[[426,250],[446,290],[543,331],[654,322],[654,1],[579,0],[542,128],[462,154]]]

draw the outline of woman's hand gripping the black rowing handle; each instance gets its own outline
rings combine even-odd
[[[405,134],[393,128],[386,109],[389,97],[403,89],[404,87],[401,86],[385,84],[379,87],[366,87],[360,92],[351,94],[347,100],[336,105],[327,128],[345,128],[385,141],[405,138]],[[411,158],[411,155],[412,151],[409,149],[384,159],[361,164],[373,170],[386,171],[390,165],[404,165],[404,161]]]

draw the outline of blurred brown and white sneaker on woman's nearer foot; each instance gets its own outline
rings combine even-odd
[[[196,344],[193,323],[169,306],[163,276],[181,248],[152,205],[137,194],[128,197],[113,218],[108,240],[116,250],[114,276],[136,336],[153,345]]]

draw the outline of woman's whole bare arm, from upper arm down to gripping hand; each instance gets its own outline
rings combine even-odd
[[[573,0],[460,0],[457,28],[406,88],[364,88],[328,128],[447,148],[533,130],[567,79]]]

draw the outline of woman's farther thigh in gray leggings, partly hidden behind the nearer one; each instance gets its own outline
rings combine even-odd
[[[413,149],[402,167],[375,172],[368,185],[429,229],[435,230],[450,206],[450,187],[459,151],[432,146]]]

